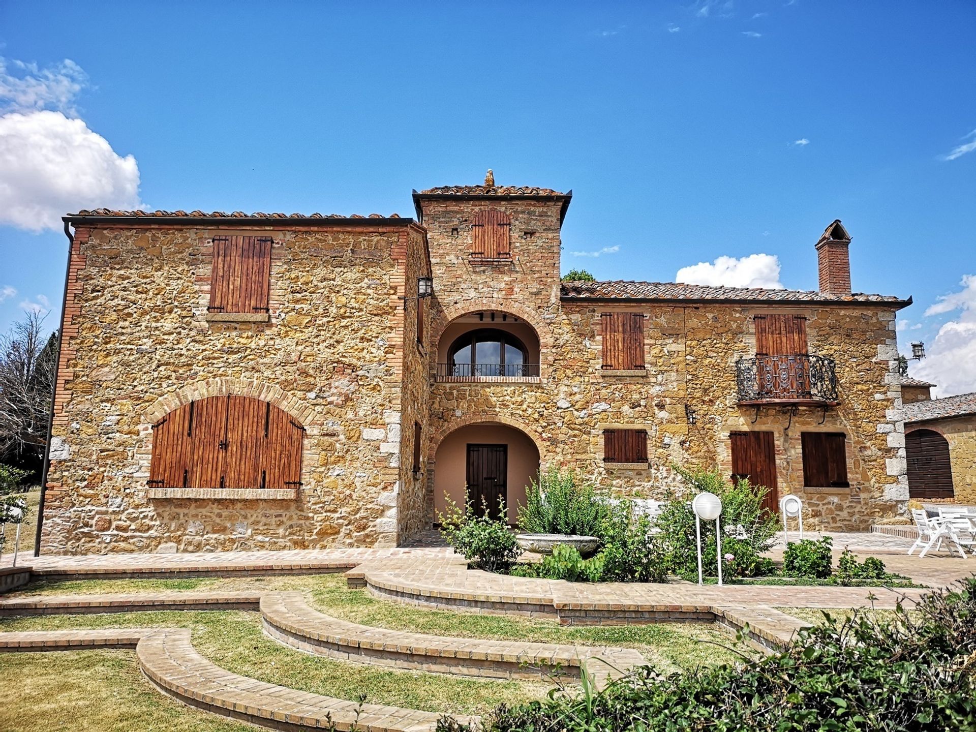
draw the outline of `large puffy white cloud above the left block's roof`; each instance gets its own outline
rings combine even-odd
[[[86,208],[140,208],[139,165],[61,112],[0,117],[0,224],[61,229]]]

